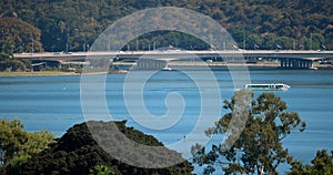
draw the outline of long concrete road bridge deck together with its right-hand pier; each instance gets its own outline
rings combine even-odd
[[[149,58],[159,61],[189,60],[191,56],[206,59],[222,58],[233,62],[243,59],[271,58],[279,59],[280,66],[285,69],[309,69],[315,60],[333,59],[333,51],[295,51],[295,50],[225,50],[225,51],[185,51],[185,50],[154,50],[154,51],[89,51],[89,52],[46,52],[16,53],[14,58],[40,61],[84,61],[95,58],[138,60]]]

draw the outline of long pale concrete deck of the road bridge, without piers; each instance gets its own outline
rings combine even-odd
[[[46,52],[46,53],[14,53],[14,58],[28,60],[56,60],[56,61],[70,61],[70,60],[84,60],[85,58],[140,58],[142,55],[149,58],[157,58],[158,60],[176,59],[181,60],[188,55],[196,55],[199,58],[276,58],[276,59],[333,59],[333,51],[293,51],[293,50],[230,50],[230,51],[125,51],[125,52],[108,52],[108,51],[89,51],[89,52]]]

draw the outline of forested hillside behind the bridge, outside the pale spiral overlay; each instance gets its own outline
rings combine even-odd
[[[278,44],[282,49],[333,49],[332,0],[2,0],[0,51],[31,52],[32,47],[40,51],[39,43],[44,51],[87,50],[115,20],[163,6],[189,8],[210,16],[228,29],[240,48],[245,43],[245,49],[276,49]],[[31,35],[26,34],[24,27],[19,28],[20,37],[17,30],[8,30],[11,23],[22,22],[36,28],[29,27]],[[195,45],[196,40],[174,32],[155,32],[150,39],[141,38],[139,43],[152,40],[157,48],[168,44],[183,49],[210,48],[202,43]],[[130,48],[137,49],[149,48],[147,44]]]

